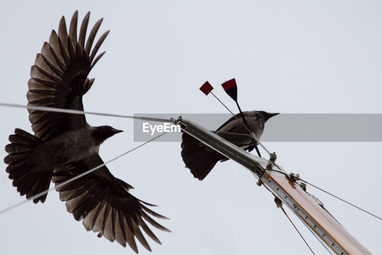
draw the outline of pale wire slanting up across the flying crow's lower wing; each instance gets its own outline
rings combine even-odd
[[[81,177],[83,177],[84,175],[87,175],[88,173],[91,173],[91,172],[97,170],[98,168],[101,168],[101,167],[105,166],[106,164],[108,164],[108,163],[110,163],[110,162],[112,162],[112,161],[114,161],[114,160],[116,160],[116,159],[119,159],[120,157],[122,157],[122,156],[128,154],[129,152],[132,152],[133,150],[136,150],[136,149],[138,149],[139,147],[142,147],[143,145],[148,144],[149,142],[151,142],[151,141],[153,141],[153,140],[159,138],[160,136],[163,136],[164,134],[166,134],[166,132],[160,134],[159,136],[154,137],[153,139],[151,139],[151,140],[149,140],[149,141],[147,141],[147,142],[144,142],[143,144],[141,144],[141,145],[135,147],[134,149],[131,149],[131,150],[129,150],[129,151],[127,151],[127,152],[125,152],[125,153],[119,155],[118,157],[115,157],[114,159],[111,159],[111,160],[109,160],[109,161],[107,161],[107,162],[105,162],[105,163],[103,163],[103,164],[101,164],[101,165],[99,165],[99,166],[97,166],[97,167],[94,167],[94,168],[92,168],[92,169],[90,169],[90,170],[87,170],[86,172],[83,172],[83,173],[81,173],[81,174],[79,174],[79,175],[77,175],[77,176],[75,176],[75,177],[73,177],[73,178],[71,178],[71,179],[69,179],[69,180],[67,180],[67,181],[64,181],[63,183],[60,183],[60,184],[58,184],[58,185],[55,185],[53,188],[50,188],[50,189],[45,190],[45,191],[42,191],[42,192],[40,192],[40,193],[38,193],[38,194],[36,194],[36,195],[34,195],[34,196],[32,196],[32,197],[26,199],[26,200],[23,200],[23,201],[21,201],[21,202],[19,202],[19,203],[17,203],[17,204],[14,204],[13,206],[9,206],[9,207],[7,207],[7,208],[1,210],[1,211],[0,211],[0,214],[3,214],[4,212],[10,211],[11,209],[14,209],[14,208],[16,208],[16,207],[18,207],[18,206],[21,206],[22,204],[28,203],[29,201],[31,201],[31,200],[33,200],[33,199],[39,198],[40,196],[43,196],[43,195],[47,194],[49,191],[52,191],[52,190],[61,188],[62,186],[65,186],[66,184],[70,183],[71,181],[77,180],[78,178],[81,178]]]

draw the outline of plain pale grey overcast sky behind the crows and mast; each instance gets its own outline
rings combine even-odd
[[[27,103],[36,54],[50,31],[58,29],[61,16],[70,22],[75,10],[79,23],[91,11],[89,26],[104,17],[98,36],[110,29],[100,49],[107,53],[90,73],[95,82],[84,96],[86,111],[226,113],[199,91],[206,80],[236,111],[220,87],[235,77],[243,110],[382,113],[379,1],[5,1],[0,10],[1,102]],[[0,114],[2,146],[16,127],[32,132],[27,110],[0,108]],[[104,161],[141,144],[133,142],[130,119],[86,118],[93,126],[125,130],[101,146]],[[277,152],[287,172],[382,215],[382,143],[265,145]],[[180,142],[152,142],[108,165],[115,177],[134,186],[134,196],[158,204],[155,211],[171,218],[158,222],[172,233],[153,228],[162,245],[148,240],[152,254],[309,254],[273,196],[256,185],[248,170],[229,160],[199,181],[184,167],[180,151]],[[308,192],[372,253],[381,253],[381,221],[313,187]],[[0,171],[0,194],[0,209],[25,199],[5,171]],[[314,252],[327,254],[287,212]],[[57,192],[49,193],[44,204],[28,203],[0,215],[0,226],[2,254],[133,254],[87,232],[66,212]],[[149,254],[140,244],[138,249]]]

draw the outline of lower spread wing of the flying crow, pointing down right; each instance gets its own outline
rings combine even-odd
[[[72,162],[65,168],[55,169],[52,181],[57,186],[102,163],[104,162],[98,154],[79,162]],[[66,201],[66,209],[73,214],[74,219],[77,221],[83,219],[82,223],[87,231],[99,232],[98,237],[103,235],[111,242],[116,240],[123,247],[127,242],[138,253],[135,236],[147,250],[151,251],[139,227],[155,242],[160,244],[160,241],[143,219],[158,229],[170,232],[147,213],[161,219],[168,218],[144,206],[144,204],[154,205],[135,198],[128,192],[131,188],[133,187],[115,178],[104,166],[56,190],[60,193],[61,201]]]

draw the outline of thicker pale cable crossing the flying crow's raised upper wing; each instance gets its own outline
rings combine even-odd
[[[39,110],[39,111],[54,111],[56,113],[72,113],[72,114],[91,114],[91,115],[100,115],[100,116],[109,116],[109,117],[118,117],[118,118],[128,118],[128,119],[141,119],[146,121],[157,121],[157,122],[173,122],[172,119],[159,119],[159,118],[150,118],[150,117],[137,117],[137,116],[128,116],[128,115],[119,115],[119,114],[110,114],[110,113],[95,113],[91,111],[80,111],[73,109],[62,109],[54,108],[47,106],[31,106],[31,105],[18,105],[10,103],[0,103],[0,106],[9,106],[9,107],[18,107],[18,108],[27,108],[29,110]]]

